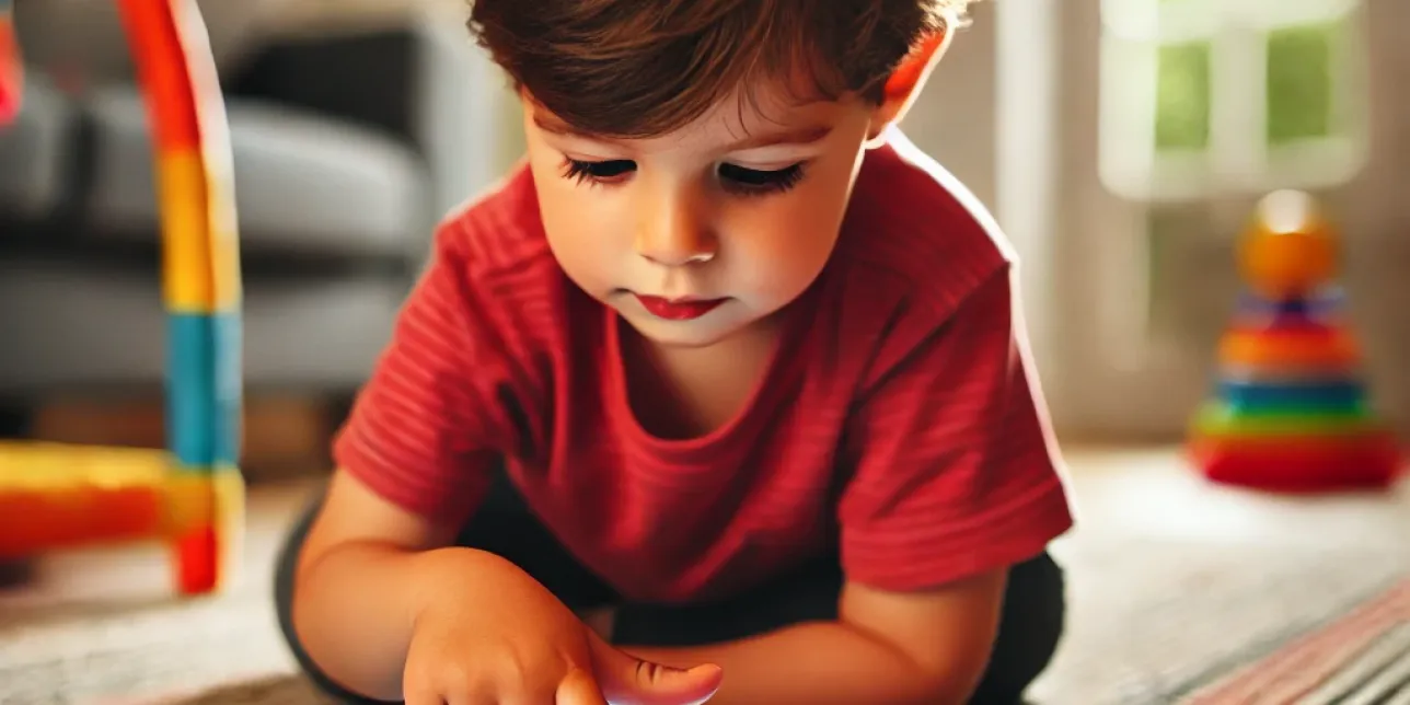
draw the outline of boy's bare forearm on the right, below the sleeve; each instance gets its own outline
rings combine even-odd
[[[838,622],[701,649],[626,649],[667,666],[719,664],[711,705],[962,704],[993,649],[1005,571],[924,592],[849,584]]]

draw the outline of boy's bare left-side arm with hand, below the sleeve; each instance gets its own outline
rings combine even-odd
[[[409,702],[673,705],[718,688],[718,667],[673,671],[613,650],[516,565],[447,547],[450,526],[334,477],[293,591],[295,632],[320,671]]]

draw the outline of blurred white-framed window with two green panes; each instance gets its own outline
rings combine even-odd
[[[1365,159],[1361,0],[1103,0],[1100,171],[1187,202],[1348,180]]]

